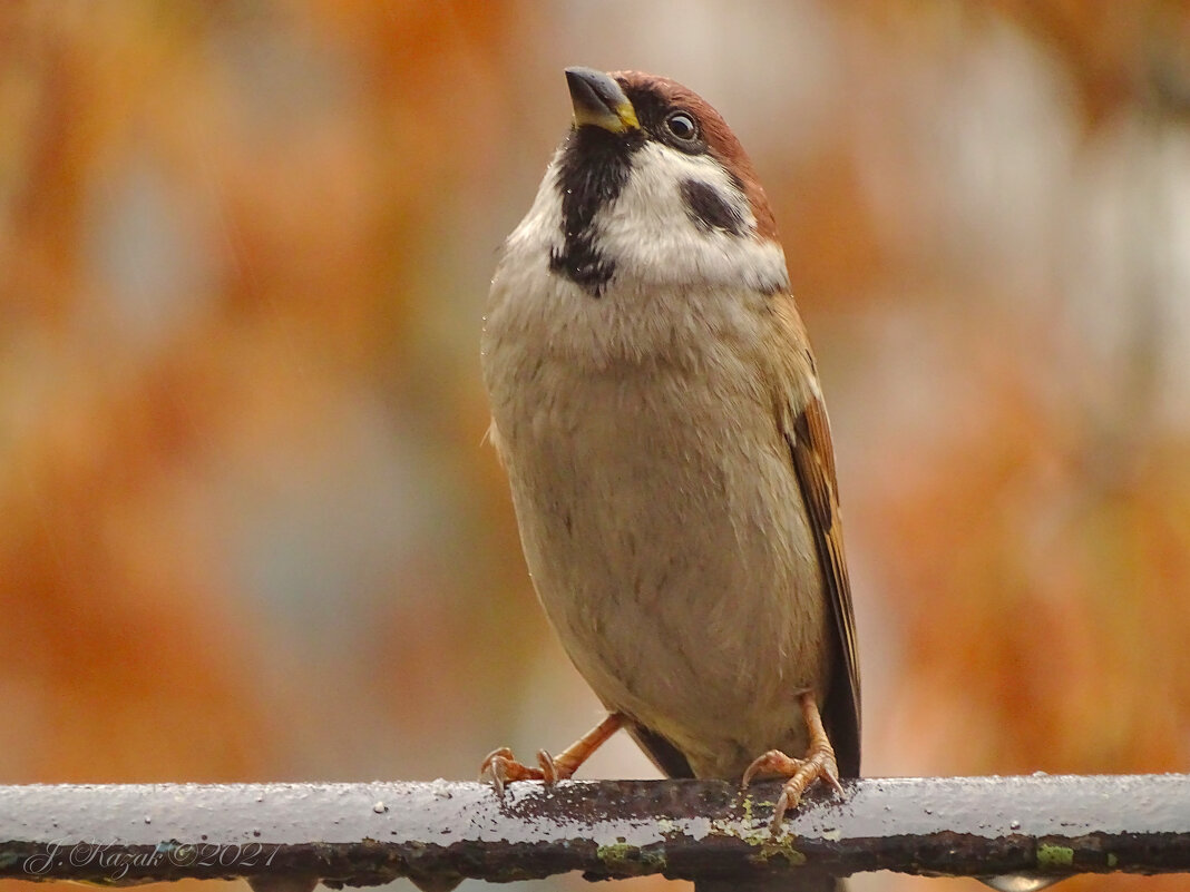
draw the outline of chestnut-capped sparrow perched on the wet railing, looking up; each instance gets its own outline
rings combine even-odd
[[[607,717],[536,766],[496,749],[481,777],[569,778],[622,728],[672,778],[785,778],[777,827],[815,781],[859,775],[814,354],[724,118],[658,75],[565,77],[572,126],[503,244],[481,360],[538,599]],[[696,885],[728,887],[770,888]]]

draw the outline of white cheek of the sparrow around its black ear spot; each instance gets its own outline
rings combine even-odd
[[[687,180],[706,183],[731,201],[749,234],[700,228],[682,197],[681,183]],[[600,250],[615,263],[619,281],[746,284],[760,291],[789,287],[781,246],[752,234],[752,208],[727,172],[707,156],[645,145],[633,158],[625,190],[599,213],[595,226]]]

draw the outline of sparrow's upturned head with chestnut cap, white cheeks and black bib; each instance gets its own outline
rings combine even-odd
[[[638,71],[566,69],[574,126],[511,239],[599,297],[619,287],[788,290],[752,163],[701,96]],[[539,255],[540,256],[540,255]]]

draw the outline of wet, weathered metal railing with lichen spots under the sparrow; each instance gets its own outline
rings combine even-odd
[[[0,877],[257,890],[446,890],[582,871],[1039,878],[1190,872],[1190,775],[865,778],[770,824],[778,783],[695,780],[0,787]]]

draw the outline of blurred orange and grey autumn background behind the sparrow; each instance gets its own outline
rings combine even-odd
[[[481,442],[568,64],[685,82],[766,184],[865,773],[1190,769],[1186,4],[14,1],[0,783],[469,779],[599,718]]]

